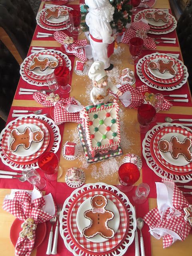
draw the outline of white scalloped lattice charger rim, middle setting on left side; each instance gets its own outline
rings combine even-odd
[[[46,52],[54,52],[54,53],[58,54],[60,57],[62,57],[64,59],[64,61],[66,62],[66,66],[69,68],[69,70],[71,70],[71,61],[66,54],[64,54],[63,52],[60,52],[58,50],[52,50],[52,49],[40,50],[39,52],[45,52],[45,51]],[[36,55],[36,52],[30,54],[22,62],[21,66],[20,66],[20,75],[23,78],[23,80],[26,81],[28,84],[32,84],[32,85],[36,85],[36,86],[48,86],[47,81],[45,81],[45,82],[42,82],[41,80],[36,81],[32,77],[28,77],[25,74],[25,64],[26,64],[27,60],[29,58],[31,58],[31,56],[33,56],[33,55]]]

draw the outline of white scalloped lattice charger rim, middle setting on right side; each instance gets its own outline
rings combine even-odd
[[[160,91],[173,91],[173,90],[176,90],[176,89],[179,89],[181,88],[186,82],[187,82],[187,78],[189,76],[188,74],[188,71],[187,71],[187,68],[186,66],[183,64],[182,61],[178,60],[177,58],[175,58],[174,56],[171,56],[171,58],[175,59],[177,62],[179,62],[179,64],[182,66],[182,69],[183,69],[183,73],[184,73],[184,76],[183,76],[183,79],[177,84],[177,85],[174,85],[174,86],[171,86],[170,87],[164,87],[163,85],[162,86],[159,86],[157,84],[153,84],[151,83],[150,81],[148,81],[144,76],[143,76],[143,73],[142,73],[142,65],[143,63],[148,60],[148,58],[150,57],[154,57],[156,55],[159,55],[159,53],[152,53],[152,54],[147,54],[145,55],[143,58],[141,58],[137,65],[136,65],[136,72],[140,78],[140,80],[142,82],[144,82],[146,85],[148,85],[149,87],[151,88],[154,88],[156,90],[160,90]],[[165,54],[166,55],[166,54]]]

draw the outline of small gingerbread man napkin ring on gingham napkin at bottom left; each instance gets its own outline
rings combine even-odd
[[[34,219],[27,218],[25,222],[21,224],[22,231],[19,233],[19,236],[24,238],[27,237],[29,240],[34,238],[34,230],[36,230],[36,224],[34,224]]]

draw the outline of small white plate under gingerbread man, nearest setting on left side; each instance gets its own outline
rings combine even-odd
[[[32,132],[34,132],[35,130],[41,130],[35,124],[22,124],[22,125],[17,127],[17,130],[19,132],[24,132],[26,127],[30,127]],[[11,144],[12,141],[13,141],[13,139],[10,135],[9,138],[8,138],[8,141],[7,141],[8,148],[10,148],[10,144]],[[40,142],[33,142],[32,141],[31,146],[30,146],[29,149],[24,149],[24,147],[22,145],[20,145],[20,146],[18,146],[17,150],[15,152],[12,152],[12,153],[16,156],[31,156],[32,154],[34,154],[38,150],[40,150],[40,148],[42,147],[43,141],[44,141],[44,138]]]

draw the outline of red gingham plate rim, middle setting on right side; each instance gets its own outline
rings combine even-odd
[[[158,77],[154,76],[153,74],[151,74],[151,72],[149,71],[149,68],[148,68],[148,64],[149,64],[150,61],[153,61],[153,60],[155,60],[157,58],[173,60],[175,65],[176,65],[176,67],[177,67],[177,74],[173,78],[169,78],[169,79],[158,78]],[[176,59],[173,59],[172,57],[164,55],[164,54],[159,54],[159,55],[153,56],[151,58],[148,58],[144,62],[143,65],[144,65],[144,70],[145,70],[146,74],[151,79],[153,79],[156,82],[162,83],[162,84],[168,84],[168,86],[170,86],[171,83],[177,82],[180,78],[182,78],[182,75],[183,75],[183,68],[182,68],[181,64]]]

